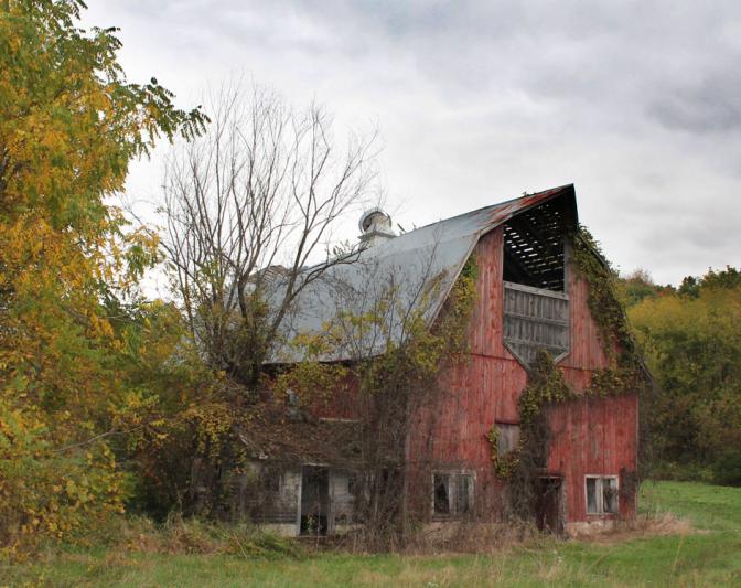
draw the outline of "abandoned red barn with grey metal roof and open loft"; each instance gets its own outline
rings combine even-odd
[[[433,325],[461,272],[475,264],[465,359],[440,372],[439,394],[407,403],[400,457],[373,474],[378,483],[404,472],[397,509],[430,525],[506,515],[512,490],[495,462],[522,446],[520,397],[545,351],[572,392],[545,407],[548,442],[534,478],[538,525],[572,533],[633,517],[638,394],[627,379],[624,389],[589,393],[593,376],[615,366],[620,342],[600,331],[590,310],[592,278],[572,260],[579,231],[573,185],[400,235],[374,210],[361,231],[357,261],[333,268],[301,293],[284,344],[266,363],[279,371],[305,361],[292,340],[322,332],[339,313],[367,313],[389,284],[397,307],[417,309]],[[389,320],[383,334],[364,332],[361,341],[341,342],[311,361],[352,366],[377,356],[389,340],[405,336],[402,321]],[[286,398],[265,403],[240,435],[251,470],[239,479],[237,513],[287,535],[342,533],[365,521],[357,506],[367,493],[361,431],[374,417],[356,391],[352,383],[337,386],[324,391],[323,402],[309,403],[289,389]]]

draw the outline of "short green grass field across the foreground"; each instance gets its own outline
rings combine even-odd
[[[266,559],[67,549],[0,567],[0,586],[741,586],[741,489],[647,483],[642,509],[676,513],[694,530],[599,543],[544,541],[485,555]]]

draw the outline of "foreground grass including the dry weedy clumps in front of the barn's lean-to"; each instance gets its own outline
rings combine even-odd
[[[661,482],[642,504],[636,524],[598,539],[475,554],[318,553],[249,527],[135,520],[108,545],[2,566],[0,586],[741,586],[741,489]]]

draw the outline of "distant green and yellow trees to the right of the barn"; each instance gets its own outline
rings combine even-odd
[[[655,477],[741,484],[741,271],[657,286],[645,270],[620,280],[655,389]]]

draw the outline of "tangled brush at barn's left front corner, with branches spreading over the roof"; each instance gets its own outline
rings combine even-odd
[[[432,259],[422,265],[428,269]],[[369,276],[370,281],[376,278],[373,272]],[[379,276],[378,289],[364,312],[341,312],[323,333],[298,340],[304,361],[287,374],[307,403],[322,391],[340,389],[346,382],[354,385],[362,446],[359,463],[353,464],[354,510],[364,522],[356,539],[370,549],[404,545],[416,523],[407,504],[411,418],[445,393],[441,374],[464,361],[468,351],[476,299],[475,256],[466,260],[431,323],[430,312],[442,298],[444,277],[425,270],[419,282],[410,285],[398,276]],[[411,298],[407,296],[410,291],[415,292]],[[354,307],[348,302],[344,308]],[[336,349],[352,350],[351,361],[315,361]],[[414,459],[415,468],[423,468],[419,456]]]

